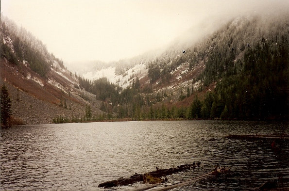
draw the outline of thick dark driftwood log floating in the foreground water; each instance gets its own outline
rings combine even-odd
[[[116,187],[116,186],[125,186],[128,184],[133,184],[136,182],[144,181],[144,179],[147,175],[151,175],[153,177],[162,177],[162,176],[171,175],[173,173],[178,173],[178,172],[181,172],[184,170],[189,170],[191,168],[195,168],[196,166],[200,166],[200,162],[197,162],[197,164],[195,164],[195,163],[184,164],[184,165],[180,165],[176,168],[169,168],[169,169],[158,169],[157,168],[158,170],[152,171],[149,173],[145,173],[143,175],[136,174],[136,175],[132,175],[128,178],[120,177],[119,179],[116,179],[116,180],[103,182],[103,183],[99,184],[98,187],[110,188],[110,187]]]

